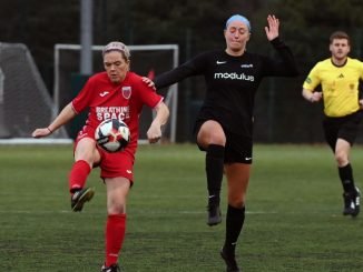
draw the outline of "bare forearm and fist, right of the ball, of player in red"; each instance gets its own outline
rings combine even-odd
[[[154,118],[150,128],[146,132],[149,143],[156,143],[160,140],[161,127],[166,124],[169,118],[169,109],[163,101],[160,101],[154,108],[154,110],[156,111],[156,117]]]

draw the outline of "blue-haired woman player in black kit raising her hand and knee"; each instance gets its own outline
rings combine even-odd
[[[245,198],[253,160],[253,110],[264,77],[294,77],[297,68],[287,46],[278,38],[279,21],[267,17],[267,40],[279,58],[274,60],[246,51],[249,21],[239,14],[225,26],[226,49],[202,53],[155,79],[157,89],[192,75],[204,75],[207,92],[195,124],[196,141],[206,151],[208,225],[222,222],[219,192],[225,173],[228,208],[225,243],[220,255],[227,271],[241,271],[235,260],[236,242],[245,220]]]

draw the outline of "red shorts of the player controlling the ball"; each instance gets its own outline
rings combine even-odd
[[[95,132],[92,129],[84,128],[77,135],[75,141],[75,150],[78,142],[84,138],[95,139]],[[128,179],[130,182],[134,181],[134,162],[135,162],[135,154],[133,149],[126,148],[124,151],[110,153],[101,148],[96,145],[99,154],[100,154],[100,162],[95,164],[94,168],[99,167],[101,169],[100,177],[102,179],[106,178],[117,178],[122,177]]]

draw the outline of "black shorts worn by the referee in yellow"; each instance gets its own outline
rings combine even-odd
[[[352,114],[340,118],[325,117],[323,120],[325,140],[333,152],[335,152],[337,139],[343,139],[353,145],[360,129],[363,111],[356,111]]]

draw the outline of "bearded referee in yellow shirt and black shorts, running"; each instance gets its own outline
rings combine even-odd
[[[334,152],[344,191],[343,214],[355,218],[360,213],[360,190],[354,184],[350,151],[363,114],[360,95],[363,62],[347,57],[351,42],[343,31],[331,34],[330,51],[331,58],[320,61],[311,70],[302,94],[312,103],[323,100],[325,140]],[[317,85],[322,87],[322,92],[314,92]]]

